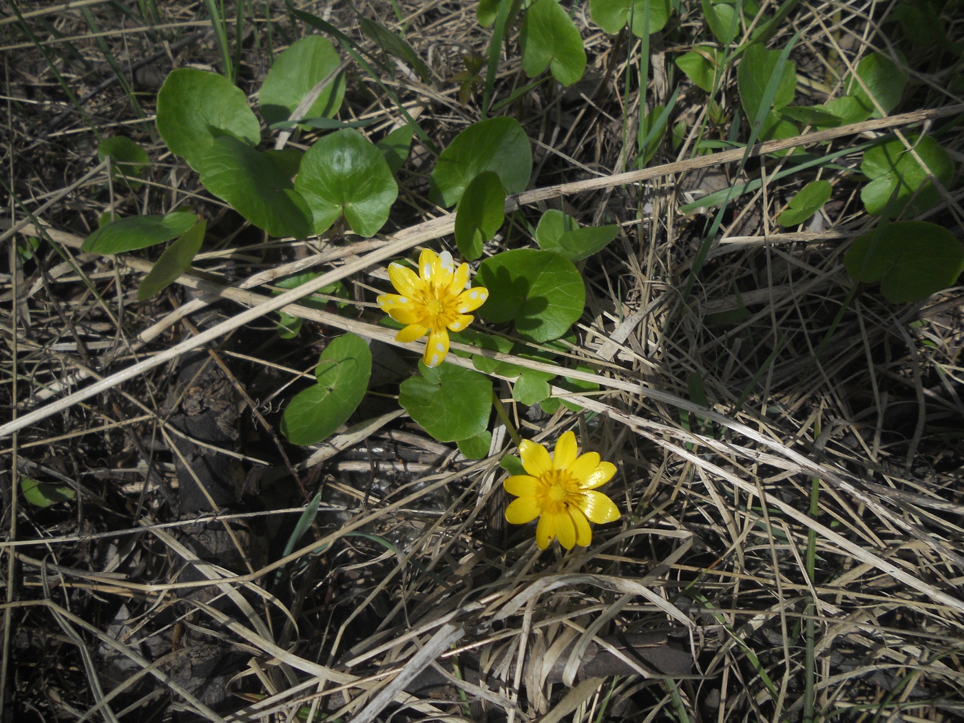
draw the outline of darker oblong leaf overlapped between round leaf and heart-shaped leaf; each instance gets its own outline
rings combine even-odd
[[[222,136],[201,157],[204,188],[272,236],[311,233],[308,204],[294,191],[286,169],[271,156]]]

